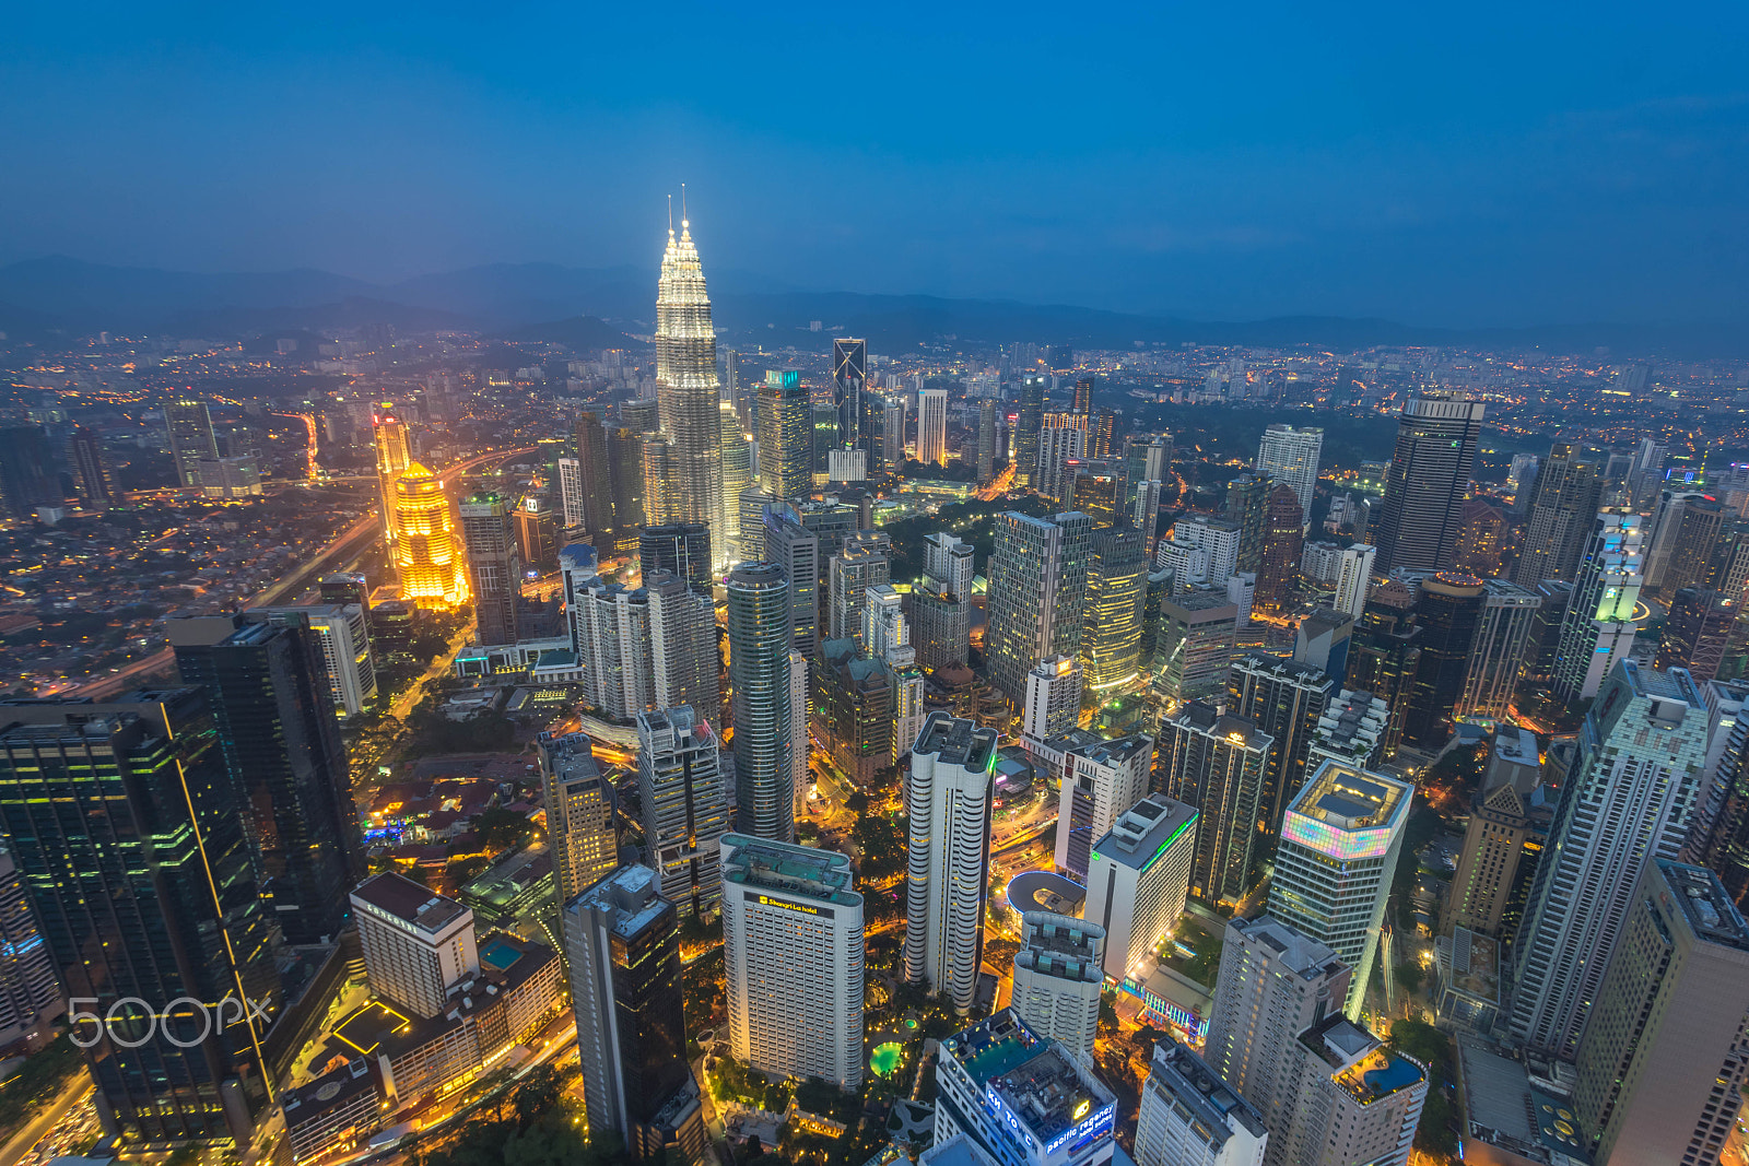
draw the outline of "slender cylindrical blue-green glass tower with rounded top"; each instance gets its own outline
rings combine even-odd
[[[736,829],[789,843],[796,836],[789,580],[777,563],[742,563],[729,572],[728,591]]]

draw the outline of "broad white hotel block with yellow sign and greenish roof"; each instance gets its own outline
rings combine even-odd
[[[729,1047],[761,1073],[862,1087],[862,895],[834,850],[722,837]]]

